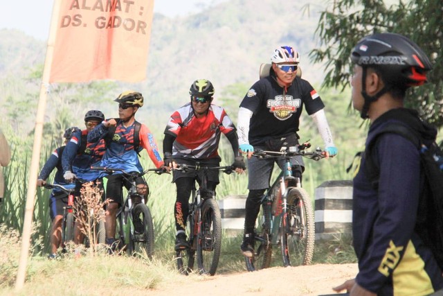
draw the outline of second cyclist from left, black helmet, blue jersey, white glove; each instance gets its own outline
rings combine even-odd
[[[82,182],[94,182],[101,188],[102,182],[98,172],[91,170],[91,166],[100,162],[105,154],[105,141],[91,143],[87,141],[87,135],[98,123],[105,120],[105,115],[98,110],[89,110],[84,115],[85,130],[73,133],[73,137],[66,144],[66,149],[62,156],[62,166],[64,170],[64,180],[73,182],[78,179]],[[80,182],[75,185],[75,196],[80,196]],[[78,227],[75,227],[74,243],[83,241],[83,234]]]

